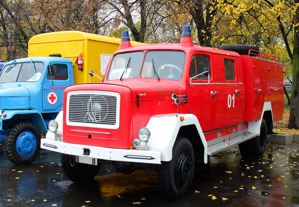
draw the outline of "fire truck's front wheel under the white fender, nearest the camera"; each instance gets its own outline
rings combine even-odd
[[[187,194],[194,173],[194,152],[190,141],[177,137],[172,159],[158,166],[158,183],[162,195],[171,200]]]

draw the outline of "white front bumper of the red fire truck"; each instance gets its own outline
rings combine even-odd
[[[114,149],[97,146],[65,143],[50,139],[41,139],[41,148],[68,155],[86,156],[109,161],[139,162],[161,164],[161,152],[138,149]],[[89,155],[83,155],[83,148],[90,150]]]

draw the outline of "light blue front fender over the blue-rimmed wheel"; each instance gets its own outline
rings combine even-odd
[[[3,115],[6,114],[6,117]],[[13,119],[31,119],[33,123],[39,128],[40,132],[47,132],[48,127],[45,125],[45,121],[42,114],[36,110],[6,110],[0,117],[1,127],[10,120],[13,123]],[[4,130],[4,129],[2,129]]]

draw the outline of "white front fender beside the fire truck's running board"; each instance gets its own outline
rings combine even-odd
[[[180,117],[184,117],[181,121]],[[172,148],[181,126],[195,125],[204,146],[204,162],[208,162],[208,145],[205,140],[205,135],[198,122],[198,119],[193,114],[162,114],[155,115],[149,119],[147,129],[151,135],[148,141],[148,149],[159,151],[161,153],[161,161],[170,161],[172,159]],[[145,149],[145,143],[141,142],[141,149]],[[196,150],[196,146],[193,146]]]

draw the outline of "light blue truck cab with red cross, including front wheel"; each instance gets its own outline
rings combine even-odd
[[[42,133],[63,104],[65,87],[74,84],[66,58],[31,57],[7,62],[0,73],[0,143],[14,164],[34,161]]]

